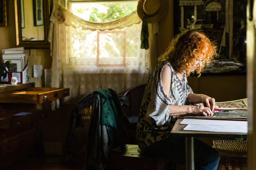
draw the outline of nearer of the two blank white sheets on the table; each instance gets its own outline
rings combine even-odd
[[[187,125],[184,130],[247,133],[247,126]]]

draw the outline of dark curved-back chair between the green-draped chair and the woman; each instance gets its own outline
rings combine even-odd
[[[124,112],[130,121],[130,124],[127,125],[128,144],[136,144],[136,128],[145,88],[146,84],[139,85],[129,89],[124,94],[129,101],[129,108],[123,106]]]

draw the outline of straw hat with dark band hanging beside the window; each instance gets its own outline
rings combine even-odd
[[[160,21],[168,9],[168,0],[139,0],[137,13],[143,20],[143,11],[148,15],[148,23]]]

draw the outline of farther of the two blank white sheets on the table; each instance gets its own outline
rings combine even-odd
[[[247,121],[227,121],[227,120],[209,120],[209,119],[183,119],[180,124],[185,124],[185,125],[248,126]]]

